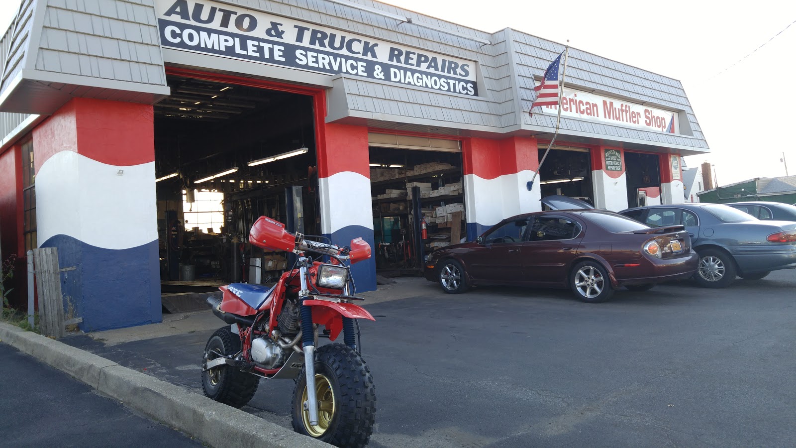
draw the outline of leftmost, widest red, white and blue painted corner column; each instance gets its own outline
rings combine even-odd
[[[75,98],[33,130],[39,247],[84,331],[161,320],[153,108]]]

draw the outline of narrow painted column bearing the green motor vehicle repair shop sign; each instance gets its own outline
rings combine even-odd
[[[613,211],[627,208],[625,151],[615,147],[591,149],[591,179],[595,207]]]

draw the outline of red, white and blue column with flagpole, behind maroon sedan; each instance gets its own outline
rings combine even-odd
[[[527,187],[539,169],[535,138],[464,140],[462,159],[468,241],[505,218],[541,210],[538,182]]]

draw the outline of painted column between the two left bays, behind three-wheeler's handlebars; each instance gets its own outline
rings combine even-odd
[[[376,248],[370,199],[368,128],[322,124],[318,132],[318,194],[321,231],[338,246],[363,238],[373,257],[351,268],[357,291],[376,289]]]

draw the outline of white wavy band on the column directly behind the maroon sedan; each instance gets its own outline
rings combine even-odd
[[[482,179],[477,175],[464,176],[465,214],[467,222],[493,226],[515,214],[541,210],[539,178],[533,190],[527,184],[533,171],[501,175],[495,179]]]

